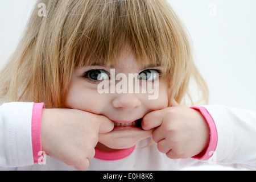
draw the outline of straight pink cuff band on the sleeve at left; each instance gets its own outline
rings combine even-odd
[[[32,111],[31,138],[34,163],[38,163],[39,158],[42,156],[41,119],[43,108],[43,103],[34,104]]]

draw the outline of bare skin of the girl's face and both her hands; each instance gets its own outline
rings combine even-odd
[[[124,73],[127,77],[146,69],[164,70],[146,65],[142,69],[130,49],[123,51],[115,63],[115,74]],[[148,100],[148,93],[100,94],[100,82],[84,77],[93,69],[110,72],[109,67],[102,66],[75,69],[65,102],[68,109],[43,109],[42,147],[47,155],[83,170],[89,167],[95,147],[102,151],[121,150],[151,136],[158,150],[171,159],[195,156],[208,146],[209,128],[200,113],[174,100],[168,107],[167,79],[159,76],[156,100]],[[141,86],[146,82],[142,80]],[[114,122],[140,118],[141,129],[113,130]]]

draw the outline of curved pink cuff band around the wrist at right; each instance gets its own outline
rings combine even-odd
[[[209,142],[209,146],[208,146],[207,150],[205,151],[203,156],[197,155],[197,156],[194,156],[193,158],[199,159],[199,160],[207,160],[213,155],[213,152],[216,150],[216,146],[217,146],[217,142],[218,142],[218,134],[217,134],[216,125],[213,121],[212,116],[208,113],[208,111],[207,111],[207,109],[205,109],[205,107],[191,107],[191,108],[201,112],[201,114],[207,121],[209,129],[210,129],[210,142]]]

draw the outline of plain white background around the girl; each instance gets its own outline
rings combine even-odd
[[[197,65],[210,89],[210,104],[256,111],[256,1],[168,1],[192,36]],[[35,2],[0,0],[0,67],[18,44]]]

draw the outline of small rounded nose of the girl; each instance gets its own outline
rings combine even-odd
[[[112,101],[112,105],[116,108],[131,110],[141,106],[141,101],[137,97],[137,94],[123,93],[115,96],[114,100]]]

